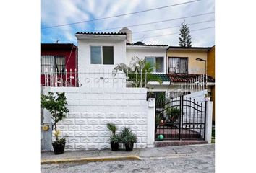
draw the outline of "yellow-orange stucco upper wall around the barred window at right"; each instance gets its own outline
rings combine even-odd
[[[167,57],[188,57],[189,59],[189,74],[205,74],[205,62],[196,61],[196,58],[207,60],[207,51],[198,50],[168,50]]]

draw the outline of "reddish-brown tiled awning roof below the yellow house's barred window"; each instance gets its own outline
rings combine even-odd
[[[196,77],[200,78],[202,74],[167,74],[171,82],[189,82]],[[208,82],[215,82],[212,76],[207,76]]]

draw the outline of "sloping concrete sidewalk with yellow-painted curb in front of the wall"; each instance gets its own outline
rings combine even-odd
[[[76,162],[76,161],[113,161],[113,160],[142,160],[161,157],[179,157],[191,155],[208,155],[215,151],[214,144],[200,144],[189,146],[166,146],[155,148],[135,148],[133,151],[89,150],[65,151],[55,155],[54,152],[42,152],[42,164]]]

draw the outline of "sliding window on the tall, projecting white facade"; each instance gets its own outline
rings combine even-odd
[[[114,64],[113,46],[90,46],[91,64]]]

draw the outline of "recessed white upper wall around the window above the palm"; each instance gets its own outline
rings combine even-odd
[[[139,47],[139,46],[137,46]],[[140,59],[144,59],[145,56],[162,56],[163,57],[163,68],[164,73],[166,72],[166,48],[152,48],[142,47],[137,48],[135,46],[127,46],[127,64],[130,63],[132,57],[137,56]]]

